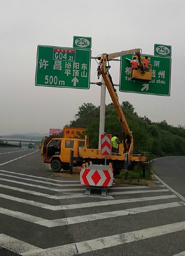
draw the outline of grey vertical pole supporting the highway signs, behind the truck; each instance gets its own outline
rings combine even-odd
[[[105,120],[105,95],[106,86],[101,76],[101,97],[100,97],[100,115],[99,115],[99,150],[101,149],[101,134],[104,133],[104,120]]]

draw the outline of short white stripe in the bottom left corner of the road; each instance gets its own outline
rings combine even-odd
[[[6,248],[7,250],[10,250],[19,254],[28,252],[28,251],[33,251],[35,253],[36,252],[35,250],[43,251],[43,249],[39,247],[25,243],[18,239],[6,236],[6,234],[0,234],[0,246],[3,248]]]

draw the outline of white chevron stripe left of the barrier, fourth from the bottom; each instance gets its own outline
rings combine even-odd
[[[49,194],[44,194],[41,192],[36,192],[36,191],[32,191],[32,190],[27,190],[27,189],[23,189],[23,188],[19,188],[19,187],[12,187],[12,186],[7,186],[7,185],[3,185],[1,184],[1,187],[3,188],[7,188],[7,189],[12,189],[14,191],[19,191],[22,193],[27,193],[27,194],[31,194],[34,196],[38,196],[38,197],[46,197],[46,198],[50,198],[50,199],[55,199],[55,200],[59,200],[59,199],[71,199],[71,198],[82,198],[85,197],[84,193],[75,193],[72,195],[67,195],[67,196],[53,196],[53,195],[49,195]],[[101,197],[102,198],[102,197]],[[104,199],[104,198],[103,198]],[[105,198],[107,199],[107,197]]]

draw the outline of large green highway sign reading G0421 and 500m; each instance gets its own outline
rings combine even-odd
[[[91,50],[38,46],[35,85],[89,89]]]

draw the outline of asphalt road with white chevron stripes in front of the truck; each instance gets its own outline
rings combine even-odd
[[[88,197],[77,180],[54,176],[40,151],[0,161],[0,255],[185,255],[184,202],[161,183]]]

